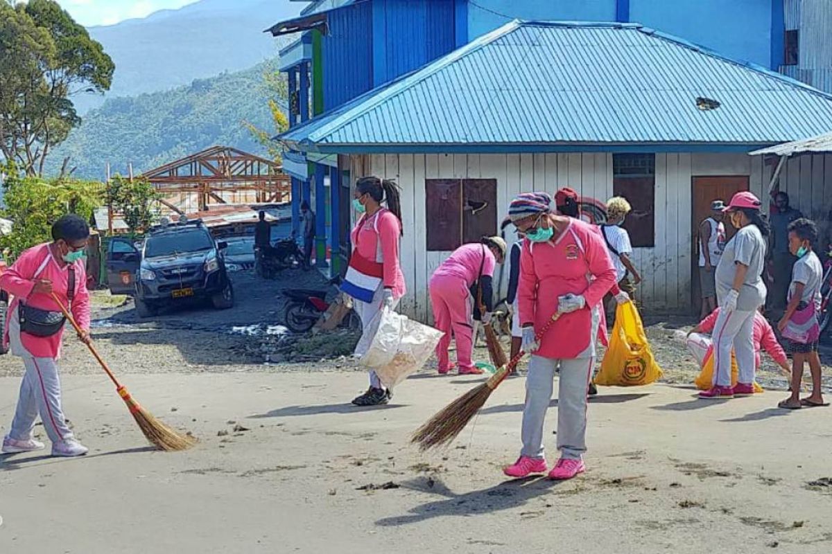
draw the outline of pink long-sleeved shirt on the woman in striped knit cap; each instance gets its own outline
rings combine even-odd
[[[544,358],[574,359],[591,349],[592,307],[615,285],[616,268],[595,226],[572,219],[548,243],[525,241],[520,254],[519,308],[522,323],[539,330],[557,312],[557,299],[582,295],[587,306],[562,315],[535,352]]]

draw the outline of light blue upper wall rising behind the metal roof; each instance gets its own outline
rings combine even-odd
[[[471,0],[468,37],[473,40],[513,18],[613,22],[628,12],[630,22],[776,70],[772,27],[779,27],[772,16],[778,8],[782,0]],[[778,34],[775,42],[782,40]]]

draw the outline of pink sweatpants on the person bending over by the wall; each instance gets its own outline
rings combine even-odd
[[[457,341],[458,369],[473,367],[473,299],[465,281],[459,277],[434,275],[428,284],[433,306],[433,325],[445,335],[436,346],[439,370],[448,370],[451,334]]]

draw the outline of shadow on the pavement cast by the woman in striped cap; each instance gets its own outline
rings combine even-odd
[[[550,493],[553,488],[557,488],[562,483],[564,482],[535,476],[505,481],[470,493],[456,494],[441,483],[427,487],[422,480],[415,480],[403,483],[401,486],[424,493],[436,493],[444,498],[412,507],[404,516],[379,519],[375,524],[379,527],[399,527],[428,521],[435,517],[466,517],[501,512],[521,507],[534,498]]]

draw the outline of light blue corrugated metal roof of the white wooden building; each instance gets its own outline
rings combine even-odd
[[[680,38],[514,21],[277,139],[344,154],[747,151],[830,129],[832,96]]]

